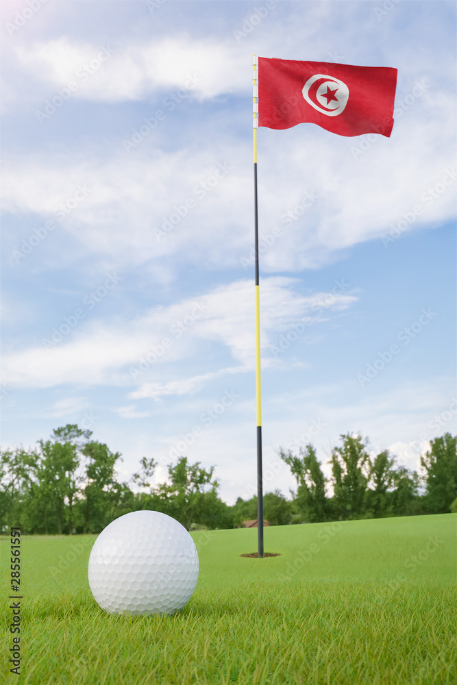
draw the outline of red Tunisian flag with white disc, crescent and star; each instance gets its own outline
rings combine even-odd
[[[258,125],[286,129],[310,122],[338,134],[393,127],[397,69],[258,58]]]

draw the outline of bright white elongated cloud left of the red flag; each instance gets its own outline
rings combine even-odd
[[[17,68],[71,97],[110,103],[186,88],[197,99],[249,89],[250,56],[232,41],[164,36],[138,45],[90,44],[69,36],[13,47]]]

